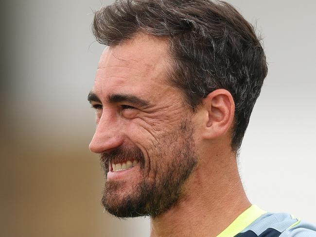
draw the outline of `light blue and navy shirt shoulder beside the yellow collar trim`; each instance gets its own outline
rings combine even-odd
[[[237,236],[316,237],[316,225],[295,218],[288,213],[265,213]]]

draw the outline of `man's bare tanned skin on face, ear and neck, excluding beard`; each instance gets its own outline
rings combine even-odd
[[[105,49],[93,88],[100,101],[91,101],[97,108],[97,128],[89,149],[102,153],[136,145],[146,154],[163,133],[175,130],[179,120],[189,116],[198,162],[182,185],[181,199],[151,218],[151,237],[216,236],[251,205],[230,147],[234,102],[227,90],[218,89],[203,99],[193,114],[183,94],[167,83],[169,62],[168,41],[144,34]],[[108,102],[107,96],[113,93],[132,94],[149,103],[126,109],[125,105],[136,105]],[[170,159],[166,155],[150,162],[163,165]],[[138,169],[120,177],[122,188],[115,193],[117,200],[132,193],[143,177]]]

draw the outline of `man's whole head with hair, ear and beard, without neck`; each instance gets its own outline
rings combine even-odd
[[[89,95],[103,205],[158,216],[185,196],[202,140],[239,149],[267,73],[263,48],[231,5],[208,0],[118,0],[92,30],[108,46]]]

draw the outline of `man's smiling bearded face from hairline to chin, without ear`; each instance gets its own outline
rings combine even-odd
[[[167,83],[168,58],[166,41],[143,35],[107,48],[99,62],[89,148],[101,154],[102,203],[117,217],[168,210],[197,163],[192,112]]]

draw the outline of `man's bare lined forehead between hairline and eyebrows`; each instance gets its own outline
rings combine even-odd
[[[166,87],[167,48],[166,40],[148,35],[138,35],[120,45],[107,47],[98,64],[94,90],[104,94],[109,88]]]

